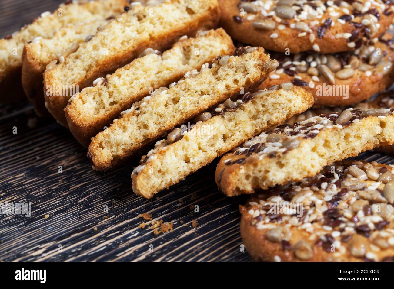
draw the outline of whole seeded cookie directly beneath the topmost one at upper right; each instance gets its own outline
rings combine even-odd
[[[353,52],[288,56],[273,53],[279,66],[260,89],[286,81],[309,91],[315,98],[314,107],[359,103],[394,82],[391,41],[371,40],[371,45],[362,45]]]

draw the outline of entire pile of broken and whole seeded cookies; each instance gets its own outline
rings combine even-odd
[[[393,260],[392,167],[345,160],[393,151],[394,94],[370,100],[394,82],[392,2],[59,9],[67,15],[43,13],[1,40],[10,61],[0,86],[21,80],[37,114],[87,147],[93,169],[134,164],[132,189],[149,199],[222,156],[218,188],[256,193],[240,206],[255,260]]]

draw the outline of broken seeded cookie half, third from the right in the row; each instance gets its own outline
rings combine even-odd
[[[187,72],[168,90],[158,88],[154,97],[134,103],[122,118],[92,139],[88,156],[93,169],[113,167],[216,103],[255,87],[277,66],[261,47],[241,48],[238,53],[241,55],[218,56],[212,68],[204,64],[200,72]]]

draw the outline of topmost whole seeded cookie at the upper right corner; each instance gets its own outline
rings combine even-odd
[[[333,53],[359,47],[392,23],[390,1],[219,0],[234,39],[278,52]]]

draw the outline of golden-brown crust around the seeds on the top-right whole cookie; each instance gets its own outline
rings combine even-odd
[[[341,21],[340,23],[338,21],[338,17],[344,17],[344,15],[348,15],[353,13],[353,9],[351,5],[348,5],[346,2],[346,7],[341,6],[341,9],[335,9],[334,13],[338,13],[337,16],[329,16],[328,15],[328,10],[322,15],[320,19],[313,19],[313,20],[302,20],[301,22],[305,22],[308,24],[310,31],[304,32],[304,30],[299,30],[296,28],[290,28],[292,25],[296,25],[296,20],[294,18],[290,19],[281,19],[279,18],[278,20],[275,20],[275,17],[269,16],[269,17],[260,17],[260,19],[264,19],[265,21],[269,21],[269,25],[266,26],[271,26],[275,24],[275,28],[270,29],[270,30],[263,30],[263,29],[258,29],[253,25],[253,22],[256,21],[256,19],[259,19],[259,17],[253,18],[253,15],[255,13],[246,13],[245,16],[240,16],[240,7],[244,7],[244,10],[247,11],[248,8],[247,6],[253,7],[253,1],[251,2],[242,2],[243,6],[238,7],[238,4],[240,3],[240,0],[219,0],[219,5],[221,9],[221,19],[219,25],[222,26],[234,39],[252,44],[252,45],[258,45],[262,46],[266,49],[269,50],[274,50],[278,52],[286,52],[286,50],[289,50],[290,53],[299,53],[303,51],[316,51],[316,52],[321,52],[321,53],[333,53],[333,52],[343,52],[343,51],[348,51],[354,49],[352,44],[349,43],[355,43],[357,42],[358,39],[361,39],[363,36],[363,33],[357,33],[353,32],[358,29],[363,29],[363,25],[360,26],[360,28],[356,28],[352,22],[357,22],[356,25],[359,26],[358,23],[362,21],[363,17],[369,17],[362,15],[361,17],[355,17],[353,20],[348,20],[348,21]],[[261,1],[256,1],[264,4],[264,2]],[[278,1],[274,1],[274,5],[277,4]],[[284,1],[282,1],[284,2]],[[286,1],[288,3],[292,2],[294,3],[295,1]],[[307,3],[317,3],[317,1],[307,1],[305,2],[304,6],[307,5]],[[362,1],[365,2],[365,1]],[[316,4],[315,3],[315,4]],[[343,2],[342,2],[343,3]],[[373,37],[377,37],[377,35],[380,35],[381,33],[385,32],[390,24],[392,24],[392,20],[394,15],[388,14],[391,11],[391,6],[384,5],[383,2],[379,3],[382,4],[382,7],[384,6],[385,8],[382,7],[373,7],[371,6],[370,9],[377,8],[379,13],[379,20],[377,21],[378,24],[380,24],[379,28],[372,28],[375,30],[375,33],[373,33]],[[361,5],[360,2],[358,2],[358,5]],[[258,9],[262,6],[256,6]],[[293,6],[293,7],[299,7],[299,6]],[[332,3],[331,7],[335,7],[334,2]],[[313,8],[310,8],[313,9]],[[346,9],[346,13],[344,13],[343,9]],[[370,11],[370,9],[363,7],[362,11]],[[385,15],[384,11],[388,9]],[[272,9],[266,10],[267,13],[269,13]],[[291,11],[291,10],[290,10]],[[314,10],[316,11],[316,10]],[[256,13],[257,15],[258,13]],[[276,14],[276,13],[275,13]],[[295,13],[297,15],[297,13]],[[237,20],[235,20],[235,17],[237,17]],[[248,20],[248,17],[251,17],[253,19]],[[298,16],[297,16],[298,17]],[[324,25],[324,22],[326,19],[331,18],[331,20],[334,22],[334,26],[331,26],[332,24]],[[242,20],[239,20],[242,19]],[[267,20],[268,19],[268,20]],[[278,22],[279,21],[279,22]],[[361,24],[361,23],[360,23]],[[279,25],[281,25],[282,29],[279,29]],[[318,35],[321,35],[322,33],[322,28],[319,28],[321,26],[324,26],[323,28],[325,30],[325,33],[323,34],[322,38],[320,38]],[[302,26],[303,27],[303,26]],[[302,28],[301,28],[302,29]],[[318,33],[319,29],[319,33]],[[303,34],[300,34],[303,33]],[[342,37],[337,38],[338,34],[342,33],[349,33],[352,34],[351,38],[344,39]],[[305,35],[304,35],[305,34]],[[302,36],[301,36],[302,35]],[[348,37],[346,35],[345,37]],[[372,37],[372,38],[373,38]],[[349,41],[351,39],[352,41]]]

